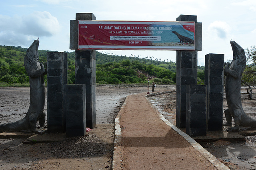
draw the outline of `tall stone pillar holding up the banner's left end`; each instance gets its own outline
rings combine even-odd
[[[70,21],[70,49],[75,49],[76,84],[86,84],[86,125],[96,126],[96,56],[95,50],[78,51],[78,20],[96,20],[92,13],[77,13]]]

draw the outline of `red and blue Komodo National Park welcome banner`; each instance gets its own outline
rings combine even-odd
[[[195,50],[195,22],[78,21],[78,50]]]

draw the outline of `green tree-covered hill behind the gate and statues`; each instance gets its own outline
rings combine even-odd
[[[0,45],[0,82],[26,83],[23,60],[26,48]],[[40,61],[46,62],[46,50],[39,50]],[[75,52],[68,53],[68,83],[75,81]],[[198,66],[203,72],[204,66]],[[202,76],[201,76],[202,78]],[[46,79],[46,78],[45,78]],[[96,51],[96,83],[147,83],[147,79],[158,83],[176,83],[176,63],[139,58],[136,55],[118,56]]]

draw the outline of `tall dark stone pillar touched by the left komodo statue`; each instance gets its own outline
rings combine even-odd
[[[66,131],[63,106],[63,85],[67,84],[68,55],[63,52],[47,53],[47,123],[48,132]]]

